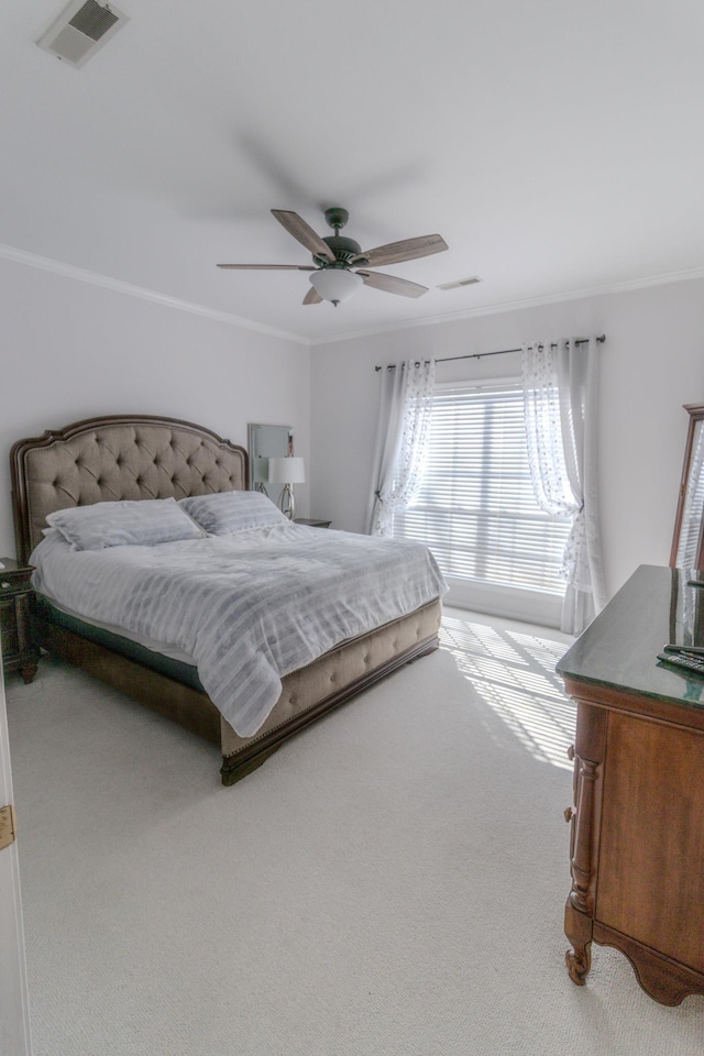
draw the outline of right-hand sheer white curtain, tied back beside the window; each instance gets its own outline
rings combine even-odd
[[[537,342],[521,353],[526,438],[538,505],[572,518],[561,574],[561,629],[580,634],[605,604],[597,491],[596,339]]]

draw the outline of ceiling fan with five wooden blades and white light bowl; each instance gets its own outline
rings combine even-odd
[[[349,300],[362,285],[382,289],[387,294],[399,294],[402,297],[421,297],[428,292],[427,286],[419,286],[418,283],[396,278],[394,275],[370,272],[367,268],[414,261],[419,256],[440,253],[448,248],[439,234],[424,234],[418,239],[404,239],[402,242],[389,242],[387,245],[362,251],[359,242],[340,234],[340,229],[349,218],[346,209],[340,206],[326,209],[326,220],[334,234],[324,238],[316,234],[297,212],[285,209],[272,209],[272,212],[288,233],[312,253],[314,264],[218,264],[218,267],[312,272],[311,288],[304,297],[304,305],[319,305],[322,300],[330,300],[337,307],[341,301]]]

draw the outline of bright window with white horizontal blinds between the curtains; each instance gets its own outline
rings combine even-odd
[[[450,604],[559,626],[570,525],[536,502],[520,381],[438,387],[422,485],[394,535],[430,548],[462,594]]]

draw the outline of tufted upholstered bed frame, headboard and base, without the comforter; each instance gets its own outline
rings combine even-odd
[[[197,496],[220,496],[217,502],[223,503],[239,501],[239,496],[222,493],[245,492],[248,487],[248,454],[243,448],[193,422],[155,416],[103,416],[47,431],[18,441],[10,462],[16,548],[22,561],[29,561],[41,542],[46,544],[46,539],[56,535],[50,521],[68,516],[64,512],[76,507],[105,503],[134,506],[156,501],[139,507],[146,510],[164,501],[176,501],[182,508],[185,499]],[[306,548],[300,532],[312,534],[305,541],[314,554],[323,552],[322,536],[350,536],[290,525],[274,525],[270,535],[290,537],[302,560]],[[361,536],[350,542],[358,548],[372,544]],[[197,541],[187,544],[200,546]],[[202,543],[210,549],[221,544],[222,538]],[[153,551],[161,552],[168,546]],[[113,553],[120,549],[130,550],[114,548]],[[178,651],[165,656],[153,642],[119,632],[119,628],[99,619],[87,619],[70,605],[63,605],[61,597],[50,601],[41,593],[35,625],[38,644],[47,651],[219,745],[222,783],[230,785],[310,723],[403,664],[437,649],[442,592],[439,580],[433,596],[424,595],[420,604],[406,604],[394,618],[370,615],[369,626],[283,673],[277,683],[280,692],[271,711],[254,733],[245,735],[237,732],[237,722],[229,722],[222,706],[206,692],[193,659],[187,662]]]

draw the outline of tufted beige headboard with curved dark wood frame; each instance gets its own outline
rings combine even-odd
[[[121,498],[184,498],[248,486],[244,448],[179,419],[88,418],[10,452],[18,558],[41,542],[46,516]]]

